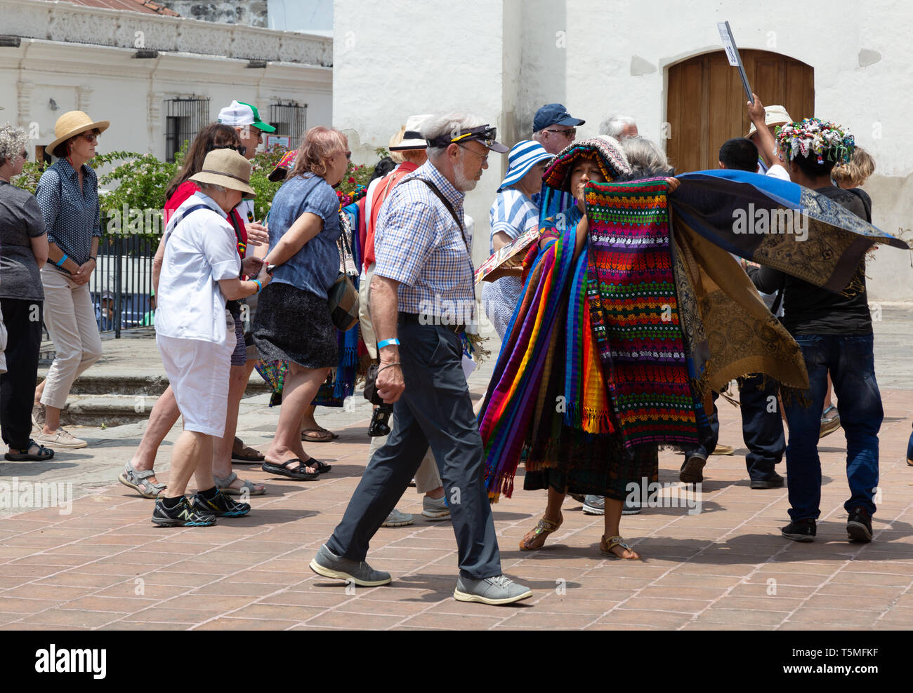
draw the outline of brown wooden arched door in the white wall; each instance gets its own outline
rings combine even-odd
[[[764,50],[741,50],[751,90],[765,106],[781,104],[794,120],[814,115],[814,68]],[[722,50],[688,58],[669,69],[666,154],[676,171],[718,168],[719,145],[748,132],[739,69]]]

